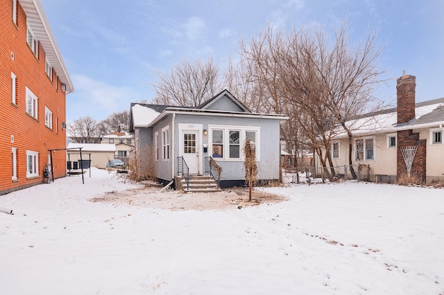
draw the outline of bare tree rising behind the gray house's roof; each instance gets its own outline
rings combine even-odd
[[[209,58],[205,62],[184,60],[171,68],[171,73],[155,72],[157,84],[153,102],[159,105],[196,107],[221,91],[219,68]]]

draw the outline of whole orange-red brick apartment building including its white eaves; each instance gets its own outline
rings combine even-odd
[[[49,150],[66,147],[74,91],[40,0],[0,1],[0,195],[40,184]],[[65,177],[66,152],[52,153]]]

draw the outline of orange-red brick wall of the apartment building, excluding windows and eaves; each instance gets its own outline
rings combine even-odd
[[[65,93],[60,82],[56,87],[57,73],[53,71],[52,81],[45,73],[42,46],[37,58],[26,43],[26,15],[17,3],[16,25],[12,21],[12,1],[0,2],[0,194],[42,182],[48,150],[66,147],[65,129],[61,128],[66,120]],[[17,75],[16,104],[11,102],[11,71]],[[26,87],[38,98],[37,120],[26,114]],[[45,106],[53,112],[53,129],[45,126]],[[17,148],[17,181],[12,181],[12,147]],[[40,177],[26,179],[26,150],[39,153]],[[53,155],[54,177],[66,175],[65,155],[64,151]]]

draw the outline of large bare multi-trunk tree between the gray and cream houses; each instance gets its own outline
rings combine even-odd
[[[352,46],[346,21],[334,30],[333,41],[327,32],[325,26],[288,31],[269,26],[249,44],[241,42],[239,54],[253,63],[252,75],[266,88],[270,110],[290,116],[282,129],[291,146],[308,140],[322,166],[330,166],[335,175],[330,154],[334,128],[368,111],[375,100],[371,94],[381,82],[377,65],[383,46],[372,31]],[[291,134],[296,123],[300,132]],[[352,129],[345,127],[351,138]]]

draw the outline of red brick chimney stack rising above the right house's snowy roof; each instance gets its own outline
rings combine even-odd
[[[398,105],[398,124],[408,123],[415,118],[416,77],[406,75],[396,80],[396,98]]]

